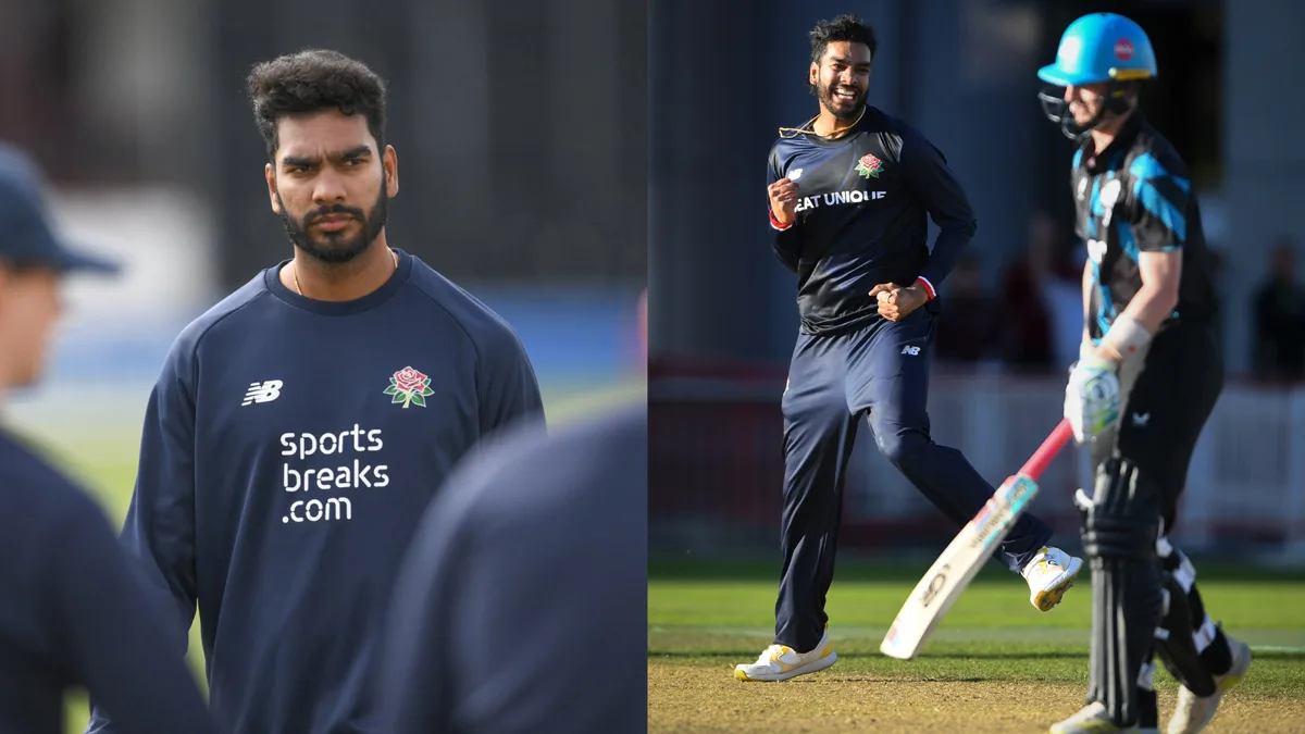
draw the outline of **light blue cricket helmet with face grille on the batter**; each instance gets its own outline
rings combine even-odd
[[[1056,61],[1037,69],[1052,88],[1109,84],[1108,103],[1087,124],[1069,114],[1064,94],[1043,90],[1043,112],[1067,137],[1079,140],[1101,123],[1105,112],[1126,110],[1125,88],[1156,77],[1155,48],[1142,26],[1114,13],[1092,13],[1071,22],[1061,35]]]

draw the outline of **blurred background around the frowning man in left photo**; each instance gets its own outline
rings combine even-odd
[[[308,46],[389,81],[390,243],[512,323],[549,418],[646,389],[642,4],[0,0],[0,138],[47,168],[70,238],[127,263],[68,283],[50,375],[5,419],[65,460],[115,528],[172,340],[291,256],[244,78]],[[69,731],[84,722],[74,708]]]

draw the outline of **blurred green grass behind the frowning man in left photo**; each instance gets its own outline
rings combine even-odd
[[[544,383],[544,410],[549,423],[568,421],[602,410],[624,400],[646,396],[647,384],[642,377],[607,385],[549,385]],[[27,405],[23,415],[29,421],[13,421],[13,428],[35,439],[51,458],[80,479],[104,508],[108,522],[116,530],[121,526],[136,482],[136,456],[140,447],[140,414],[82,414],[61,415],[42,411],[40,404]],[[145,410],[141,401],[137,407]],[[204,687],[204,656],[200,646],[198,622],[191,628],[188,661],[196,679]],[[68,734],[81,734],[86,729],[87,708],[85,695],[73,691],[67,697]]]

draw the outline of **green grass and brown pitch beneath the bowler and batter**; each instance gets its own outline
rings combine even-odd
[[[1023,580],[985,568],[915,661],[878,652],[932,559],[839,560],[829,594],[838,662],[783,683],[735,680],[774,633],[775,564],[668,564],[649,571],[650,731],[1045,731],[1083,704],[1091,580],[1051,613]],[[1305,571],[1198,563],[1211,616],[1251,644],[1250,674],[1211,733],[1302,731]],[[1176,683],[1156,675],[1161,725]]]

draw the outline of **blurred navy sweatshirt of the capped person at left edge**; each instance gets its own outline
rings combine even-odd
[[[213,733],[180,652],[94,502],[0,434],[0,731],[63,734],[82,687],[125,731]]]

